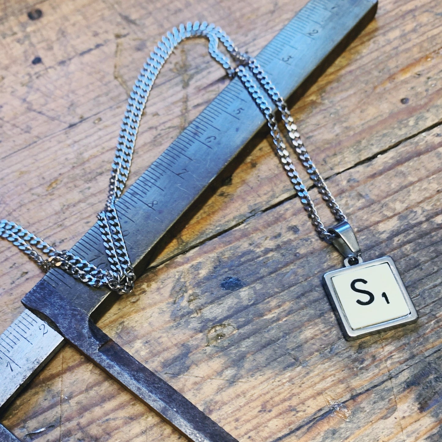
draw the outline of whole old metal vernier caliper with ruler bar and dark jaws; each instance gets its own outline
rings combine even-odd
[[[370,22],[376,8],[375,0],[311,0],[256,58],[283,97],[296,99]],[[123,194],[117,210],[138,275],[154,245],[263,123],[240,80],[233,80]],[[72,252],[106,266],[97,225]],[[96,327],[91,315],[112,299],[108,290],[91,289],[56,269],[48,272],[23,298],[29,310],[0,335],[0,406],[10,402],[64,338],[187,438],[235,441]],[[9,434],[0,428],[0,440]]]

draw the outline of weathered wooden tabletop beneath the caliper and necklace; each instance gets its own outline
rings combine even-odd
[[[4,1],[1,217],[72,246],[103,207],[126,97],[157,39],[216,20],[255,54],[304,3]],[[416,324],[343,339],[320,282],[342,260],[315,236],[268,136],[99,322],[240,441],[442,440],[441,30],[439,0],[380,0],[293,107],[364,258],[396,260]],[[149,98],[130,182],[227,81],[206,42],[179,47]],[[3,331],[42,275],[0,250]],[[2,422],[23,441],[183,440],[69,345]]]

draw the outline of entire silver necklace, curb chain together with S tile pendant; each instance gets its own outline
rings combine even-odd
[[[181,24],[179,28],[168,32],[150,54],[130,94],[112,163],[108,198],[104,210],[98,214],[98,225],[110,269],[97,268],[68,250],[58,251],[38,236],[8,220],[0,221],[0,236],[27,254],[43,271],[60,268],[95,288],[107,286],[118,293],[130,293],[133,290],[135,273],[126,250],[115,202],[122,195],[129,176],[138,126],[156,76],[181,41],[199,36],[209,40],[211,57],[223,66],[230,78],[238,76],[254,99],[267,120],[276,153],[317,235],[328,244],[334,245],[343,255],[344,267],[326,273],[323,283],[346,339],[417,320],[417,312],[393,260],[386,256],[366,263],[362,261],[361,249],[353,229],[313,164],[286,103],[267,74],[253,57],[240,52],[221,28],[206,22],[187,23],[186,26]],[[233,65],[231,59],[218,49],[219,42],[237,65]],[[329,229],[324,227],[309,192],[290,159],[285,138],[279,131],[274,113],[263,92],[279,110],[285,126],[286,141],[291,144],[335,217],[335,226]],[[38,252],[48,258],[44,259]]]

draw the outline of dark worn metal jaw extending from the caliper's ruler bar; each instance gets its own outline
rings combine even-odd
[[[66,340],[192,441],[236,441],[166,381],[110,339],[83,309],[67,301],[46,282],[34,287],[23,302],[28,309],[49,318]]]

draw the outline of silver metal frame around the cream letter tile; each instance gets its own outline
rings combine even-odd
[[[366,263],[356,264],[353,267],[358,267],[359,269],[362,269],[383,263],[388,263],[390,268],[392,269],[392,274],[396,279],[396,282],[399,286],[402,296],[404,297],[405,302],[407,303],[410,313],[406,316],[401,316],[400,318],[382,322],[381,324],[374,324],[368,327],[358,328],[356,330],[351,328],[350,323],[345,314],[345,311],[341,305],[341,302],[339,301],[338,294],[336,293],[335,288],[333,286],[333,282],[331,281],[331,278],[333,276],[339,275],[340,273],[347,271],[348,267],[343,267],[341,269],[329,271],[325,273],[322,277],[322,282],[325,292],[328,295],[331,306],[333,307],[333,310],[335,312],[335,316],[339,322],[339,325],[341,326],[344,338],[347,339],[347,341],[351,341],[357,338],[362,338],[363,336],[367,335],[372,335],[373,333],[377,333],[379,331],[390,330],[392,328],[396,328],[401,325],[412,324],[416,322],[419,318],[418,312],[413,304],[412,298],[408,294],[404,282],[400,277],[399,271],[397,270],[396,264],[394,263],[391,256],[384,256],[382,258],[372,259],[371,261],[367,261]]]

